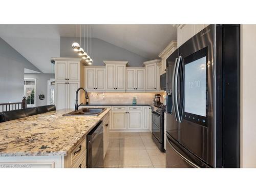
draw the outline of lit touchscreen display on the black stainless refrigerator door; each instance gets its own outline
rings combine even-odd
[[[206,117],[206,56],[186,63],[184,73],[184,112]]]

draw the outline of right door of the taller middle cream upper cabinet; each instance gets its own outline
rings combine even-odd
[[[124,65],[116,65],[116,89],[125,90],[126,73]]]

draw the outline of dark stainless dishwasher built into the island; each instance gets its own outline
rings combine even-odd
[[[103,168],[103,121],[87,135],[87,167]]]

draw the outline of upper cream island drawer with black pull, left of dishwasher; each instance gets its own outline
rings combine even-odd
[[[84,151],[86,151],[86,139],[76,145],[74,150],[67,156],[66,167],[73,167]]]

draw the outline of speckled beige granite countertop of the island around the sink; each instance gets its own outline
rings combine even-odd
[[[62,116],[57,110],[0,123],[0,156],[62,156],[93,129],[109,111],[99,116]]]

